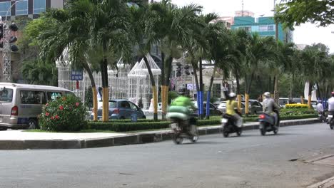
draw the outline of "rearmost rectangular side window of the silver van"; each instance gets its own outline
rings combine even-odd
[[[39,90],[21,90],[21,104],[45,104],[45,93]]]

